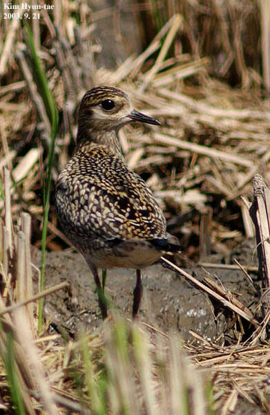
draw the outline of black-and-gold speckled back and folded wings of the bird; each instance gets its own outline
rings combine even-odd
[[[151,190],[119,158],[83,160],[81,167],[61,174],[57,183],[57,210],[61,221],[82,237],[104,239],[164,238],[166,223]],[[60,197],[59,197],[60,196]],[[73,229],[72,229],[73,228]]]

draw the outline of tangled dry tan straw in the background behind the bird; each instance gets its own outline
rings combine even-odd
[[[84,91],[93,84],[119,86],[130,93],[137,108],[163,122],[162,128],[148,129],[147,135],[127,127],[121,133],[122,148],[128,165],[148,181],[160,199],[168,225],[180,238],[186,255],[197,259],[213,247],[229,253],[243,236],[254,236],[240,195],[251,195],[257,172],[269,180],[269,104],[260,93],[260,53],[255,54],[258,44],[253,39],[254,33],[260,35],[256,4],[246,2],[237,8],[224,2],[218,7],[213,0],[209,6],[196,8],[189,1],[182,3],[178,10],[168,1],[160,10],[160,19],[166,13],[169,19],[146,50],[137,57],[131,55],[112,72],[95,68],[99,49],[93,37],[95,25],[114,13],[113,9],[91,14],[79,8],[78,28],[72,15],[74,5],[67,1],[64,15],[59,14],[58,6],[54,13],[44,12],[44,19],[33,21],[33,31],[61,109],[53,180],[73,151],[76,109]],[[136,10],[140,9],[142,6]],[[120,19],[121,23],[128,10],[113,15],[113,21]],[[173,15],[173,10],[179,14]],[[147,19],[153,20],[153,10],[150,15],[148,11]],[[217,21],[220,26],[215,26]],[[238,34],[232,30],[235,27]],[[212,48],[206,42],[207,30],[209,36],[214,30]],[[15,182],[12,212],[16,216],[23,208],[35,218],[32,242],[39,246],[40,195],[50,125],[35,87],[21,26],[5,21],[1,38],[0,73],[5,84],[0,88],[0,167],[9,167]],[[242,89],[232,89],[224,82],[232,78]],[[52,210],[47,243],[52,250],[61,248],[65,240],[55,225]]]

